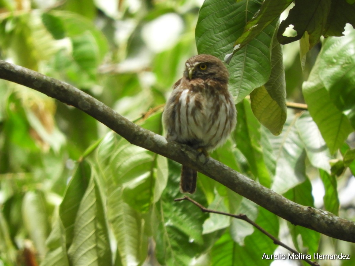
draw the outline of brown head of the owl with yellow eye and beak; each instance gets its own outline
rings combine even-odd
[[[195,55],[185,63],[184,77],[189,79],[215,79],[228,82],[229,73],[222,60],[213,55]]]

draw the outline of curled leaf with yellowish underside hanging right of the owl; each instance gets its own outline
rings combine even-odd
[[[286,121],[286,83],[282,48],[274,35],[269,80],[250,94],[251,108],[263,126],[279,135]]]

